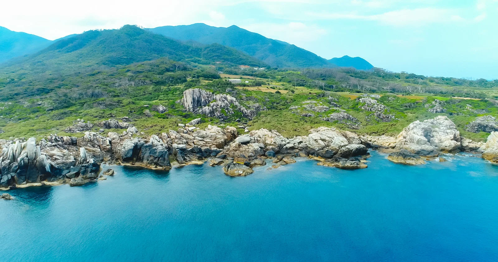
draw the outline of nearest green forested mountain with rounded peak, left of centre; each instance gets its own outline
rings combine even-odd
[[[167,57],[199,63],[226,62],[236,65],[265,66],[247,54],[219,44],[192,46],[154,34],[134,25],[121,29],[92,30],[64,37],[21,62],[58,65],[128,65]]]

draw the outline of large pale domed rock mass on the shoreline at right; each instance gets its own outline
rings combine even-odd
[[[446,116],[437,116],[423,122],[415,121],[399,133],[397,149],[406,149],[419,155],[434,152],[458,152],[461,147],[460,132]]]

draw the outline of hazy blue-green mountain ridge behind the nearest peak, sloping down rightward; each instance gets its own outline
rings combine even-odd
[[[326,60],[289,43],[266,38],[238,26],[214,27],[203,23],[179,26],[161,26],[148,29],[180,41],[196,41],[203,44],[218,43],[243,51],[273,67],[355,67],[360,65],[356,60],[335,58]],[[356,59],[356,58],[355,58]],[[359,58],[361,59],[361,58]],[[363,59],[362,59],[363,60]],[[335,63],[339,64],[335,64]],[[351,62],[351,64],[349,63]],[[367,61],[365,61],[368,65]],[[363,65],[358,69],[371,69]]]

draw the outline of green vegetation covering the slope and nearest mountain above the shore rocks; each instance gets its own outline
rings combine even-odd
[[[241,64],[264,67],[263,62],[233,48],[188,45],[135,26],[65,38],[0,69],[0,130],[4,131],[0,138],[63,135],[78,118],[96,123],[124,116],[147,135],[177,129],[179,123],[198,117],[201,127],[242,123],[251,130],[276,129],[285,136],[305,135],[318,126],[396,135],[412,121],[447,115],[463,136],[484,140],[488,134],[467,132],[465,125],[477,116],[498,116],[496,81],[432,78],[381,69],[240,69]],[[227,81],[231,78],[244,81],[234,85]],[[231,115],[222,110],[227,116],[224,121],[196,115],[177,102],[183,91],[194,87],[229,93],[246,108],[258,103],[267,111],[250,121],[238,110]],[[394,120],[381,122],[361,109],[358,97],[364,93],[376,94],[377,101],[387,106],[383,113]],[[428,112],[435,99],[442,101],[444,113]],[[309,103],[303,102],[310,100],[328,109],[316,112],[304,107]],[[159,105],[167,111],[159,113]],[[356,125],[323,120],[337,112],[356,118]]]

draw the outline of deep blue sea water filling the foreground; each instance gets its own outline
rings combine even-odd
[[[10,190],[0,261],[498,261],[497,166],[372,154],[354,171],[113,167],[82,187]]]

